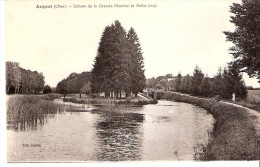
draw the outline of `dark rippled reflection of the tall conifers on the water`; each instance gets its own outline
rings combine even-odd
[[[100,110],[96,125],[100,151],[98,160],[140,160],[143,114],[126,112],[126,107]]]

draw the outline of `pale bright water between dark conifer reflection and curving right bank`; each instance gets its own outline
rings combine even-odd
[[[213,128],[213,117],[190,104],[159,101],[143,111],[144,160],[194,160]]]

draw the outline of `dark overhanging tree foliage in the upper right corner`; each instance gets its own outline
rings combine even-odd
[[[231,54],[241,71],[260,82],[260,1],[242,0],[242,4],[233,3],[230,7],[230,22],[235,25],[234,32],[224,32],[227,41],[235,46]]]

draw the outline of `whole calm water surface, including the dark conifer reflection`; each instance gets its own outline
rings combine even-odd
[[[195,160],[209,141],[214,119],[186,103],[106,106],[61,112],[43,125],[7,130],[13,161]]]

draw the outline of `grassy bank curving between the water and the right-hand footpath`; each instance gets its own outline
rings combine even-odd
[[[197,160],[259,160],[260,140],[254,116],[246,109],[174,92],[160,92],[158,99],[184,102],[206,109],[215,119],[212,139]]]

